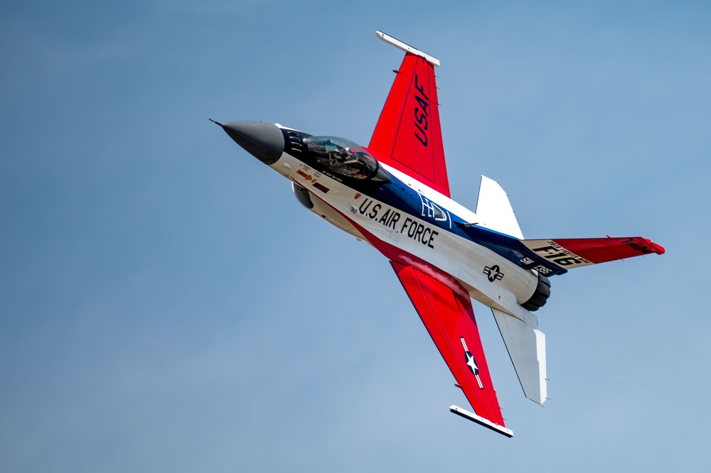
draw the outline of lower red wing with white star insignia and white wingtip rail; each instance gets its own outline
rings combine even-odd
[[[450,410],[498,433],[513,436],[503,423],[469,294],[456,281],[434,278],[405,263],[390,263],[454,374],[457,386],[474,408],[474,414],[456,406]]]

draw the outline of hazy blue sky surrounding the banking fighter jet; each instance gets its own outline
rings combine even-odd
[[[407,6],[405,6],[407,5]],[[0,6],[0,469],[703,471],[706,2]],[[367,144],[402,53],[442,60],[452,196],[528,238],[641,235],[540,310],[528,401],[475,305],[508,440],[377,251],[208,121]]]

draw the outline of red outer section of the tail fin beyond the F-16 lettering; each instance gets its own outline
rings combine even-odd
[[[643,254],[663,254],[662,246],[642,237],[555,239],[555,243],[591,263],[604,263]]]

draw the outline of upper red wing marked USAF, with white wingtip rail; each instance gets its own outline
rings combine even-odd
[[[378,38],[405,50],[368,151],[378,161],[450,197],[434,66],[439,60],[385,33]]]

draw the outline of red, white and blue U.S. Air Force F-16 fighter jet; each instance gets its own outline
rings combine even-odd
[[[289,179],[296,199],[390,260],[474,412],[450,411],[508,437],[471,299],[491,308],[525,396],[546,399],[545,335],[533,312],[552,276],[664,249],[641,237],[524,239],[506,192],[481,177],[476,212],[451,200],[434,67],[439,60],[380,31],[405,51],[367,147],[280,124],[220,124]]]

